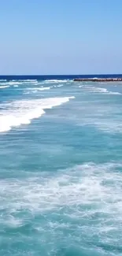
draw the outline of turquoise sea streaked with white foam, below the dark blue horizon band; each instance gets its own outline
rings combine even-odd
[[[122,83],[0,82],[0,255],[122,255]]]

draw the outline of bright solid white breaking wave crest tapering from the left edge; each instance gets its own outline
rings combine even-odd
[[[74,97],[43,98],[36,100],[22,100],[4,104],[7,110],[0,113],[0,132],[9,131],[20,124],[30,124],[32,119],[41,117],[45,109],[68,102]]]

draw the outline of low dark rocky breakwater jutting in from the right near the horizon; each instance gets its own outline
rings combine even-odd
[[[122,82],[122,78],[76,78],[75,82]]]

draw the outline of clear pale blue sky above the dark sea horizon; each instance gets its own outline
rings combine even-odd
[[[0,75],[122,73],[122,0],[0,0]]]

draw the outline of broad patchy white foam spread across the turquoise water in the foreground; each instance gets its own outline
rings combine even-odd
[[[0,209],[5,214],[6,209],[10,214],[28,210],[45,216],[53,211],[59,214],[61,225],[73,224],[76,236],[81,232],[83,239],[87,232],[91,241],[95,235],[103,242],[105,235],[116,228],[112,237],[115,243],[122,231],[121,168],[121,163],[86,163],[56,173],[35,171],[35,176],[30,173],[24,180],[0,180]]]

